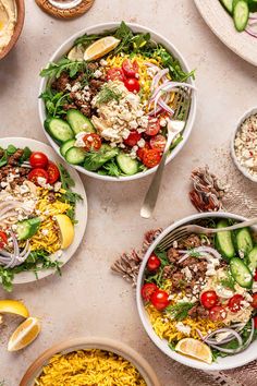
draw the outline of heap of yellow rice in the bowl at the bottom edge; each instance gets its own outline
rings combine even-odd
[[[146,386],[125,359],[103,350],[57,354],[35,379],[35,386]]]

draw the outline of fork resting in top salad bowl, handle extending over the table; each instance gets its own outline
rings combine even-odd
[[[143,206],[140,208],[140,216],[143,218],[150,218],[154,213],[170,146],[176,135],[184,130],[188,118],[191,107],[191,94],[192,89],[187,87],[179,87],[179,92],[175,94],[174,104],[178,104],[178,106],[175,109],[175,113],[172,117],[172,120],[170,119],[168,122],[168,138],[166,148],[163,150],[161,161],[151,180],[150,186],[148,188]]]

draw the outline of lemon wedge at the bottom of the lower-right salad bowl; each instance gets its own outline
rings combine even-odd
[[[184,355],[198,359],[199,361],[206,362],[208,364],[212,362],[212,354],[209,346],[197,339],[181,339],[175,347],[175,351],[179,351]]]

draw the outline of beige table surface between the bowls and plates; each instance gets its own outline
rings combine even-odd
[[[37,96],[38,72],[53,50],[76,31],[96,23],[130,21],[160,32],[197,69],[198,111],[188,144],[164,172],[160,197],[151,220],[139,217],[149,183],[105,183],[83,178],[89,218],[85,239],[63,276],[17,286],[11,298],[22,299],[42,321],[39,338],[19,353],[5,347],[12,328],[0,328],[0,381],[17,386],[26,367],[45,349],[69,337],[105,336],[128,343],[156,369],[163,386],[187,385],[173,376],[173,362],[158,351],[140,326],[130,285],[109,267],[123,251],[138,246],[149,228],[166,227],[194,212],[186,194],[191,170],[215,164],[215,149],[225,148],[237,118],[256,100],[257,69],[232,53],[208,29],[193,0],[96,0],[78,20],[57,21],[26,1],[26,23],[19,44],[0,62],[0,135],[27,136],[46,142]],[[215,165],[213,165],[215,167]],[[7,294],[0,290],[0,298]],[[196,385],[197,385],[197,379]],[[198,383],[199,385],[199,383]]]

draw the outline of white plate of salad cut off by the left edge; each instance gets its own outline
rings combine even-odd
[[[0,286],[36,281],[74,255],[87,225],[82,180],[48,145],[0,140]]]

